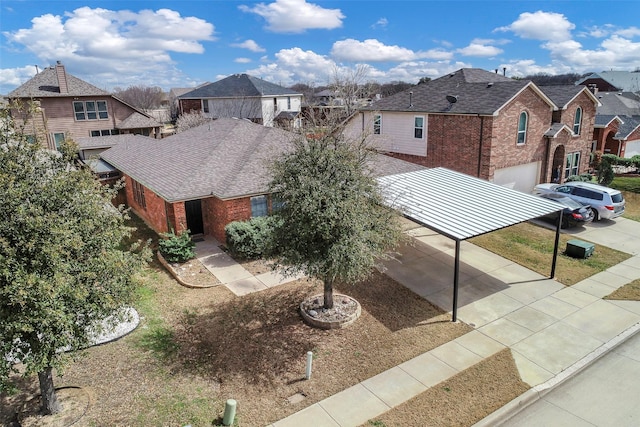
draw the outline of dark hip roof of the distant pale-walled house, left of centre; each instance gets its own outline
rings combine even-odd
[[[291,89],[252,77],[248,74],[233,74],[222,80],[196,88],[180,99],[262,97],[273,95],[300,95]]]

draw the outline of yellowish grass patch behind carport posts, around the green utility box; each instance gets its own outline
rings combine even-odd
[[[572,258],[563,252],[567,241],[574,238],[567,234],[560,235],[555,279],[564,285],[574,285],[631,257],[624,252],[596,245],[589,258]],[[548,275],[550,272],[555,230],[525,222],[469,241],[540,274]]]

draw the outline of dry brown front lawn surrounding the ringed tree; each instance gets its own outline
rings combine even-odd
[[[236,297],[223,286],[181,287],[154,263],[141,281],[140,327],[86,350],[56,378],[56,386],[81,386],[92,396],[76,425],[211,425],[234,398],[237,424],[262,426],[471,329],[377,272],[336,289],[363,310],[355,324],[334,331],[301,321],[298,304],[321,291],[306,280]],[[0,396],[0,424],[37,395],[36,384],[24,381],[21,394]],[[297,393],[302,402],[289,403]]]

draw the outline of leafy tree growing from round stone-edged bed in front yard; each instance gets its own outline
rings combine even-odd
[[[335,123],[335,122],[334,122]],[[273,165],[273,257],[286,273],[324,284],[324,308],[333,286],[369,276],[401,236],[371,170],[375,155],[362,141],[344,141],[339,126],[306,132]]]

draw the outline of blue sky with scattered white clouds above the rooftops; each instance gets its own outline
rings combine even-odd
[[[0,93],[61,61],[100,88],[192,87],[234,73],[284,86],[640,67],[633,1],[30,1],[0,5]]]

